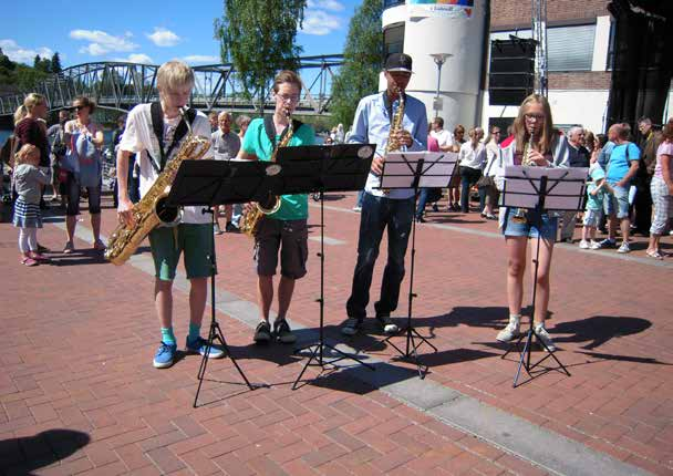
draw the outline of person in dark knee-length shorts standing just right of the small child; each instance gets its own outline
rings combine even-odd
[[[105,250],[101,240],[101,185],[103,179],[103,128],[95,124],[91,114],[95,103],[86,96],[73,101],[75,118],[65,123],[65,157],[61,161],[61,169],[65,170],[65,227],[68,241],[63,248],[64,253],[74,251],[75,226],[80,215],[80,198],[82,188],[89,195],[89,215],[93,231],[93,248],[96,251]]]

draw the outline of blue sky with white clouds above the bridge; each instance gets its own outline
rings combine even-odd
[[[309,0],[297,35],[303,55],[341,53],[360,3]],[[221,0],[38,0],[8,2],[2,10],[0,48],[12,61],[32,65],[35,54],[51,58],[58,51],[64,68],[104,60],[220,62],[213,21],[221,17]]]

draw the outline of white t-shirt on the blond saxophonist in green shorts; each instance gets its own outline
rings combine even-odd
[[[167,118],[164,116],[164,146],[167,147],[173,141],[175,130],[179,124],[180,117]],[[210,123],[208,117],[201,112],[197,112],[194,123],[191,124],[191,131],[195,135],[207,138],[210,142]],[[185,135],[186,137],[186,135]],[[180,141],[182,142],[182,141]],[[161,161],[159,154],[159,142],[154,135],[152,128],[152,113],[149,104],[138,104],[128,113],[126,120],[126,130],[120,142],[120,148],[122,151],[135,153],[136,161],[141,165],[141,197],[145,196],[147,190],[152,187],[154,182],[158,177],[158,173],[153,167],[151,156],[155,161]],[[173,147],[170,157],[177,153],[179,144]],[[149,155],[147,154],[149,151]],[[203,158],[213,158],[213,148],[208,149]],[[158,165],[158,164],[157,164]],[[203,207],[184,207],[183,223],[185,224],[209,224],[210,216],[201,213]]]

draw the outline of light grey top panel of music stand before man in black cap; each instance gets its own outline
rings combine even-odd
[[[418,188],[447,187],[458,159],[455,152],[393,152],[385,158],[381,188],[411,188],[421,159],[424,162]]]

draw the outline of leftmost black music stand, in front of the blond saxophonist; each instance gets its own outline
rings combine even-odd
[[[213,207],[217,205],[240,204],[257,201],[272,187],[271,178],[277,175],[275,169],[268,169],[269,164],[263,162],[250,161],[184,161],[180,164],[175,180],[167,197],[168,206],[206,206],[204,214],[211,215],[211,224],[215,228],[215,213]],[[208,354],[216,341],[225,350],[225,354],[231,359],[231,363],[248,385],[255,390],[244,371],[240,369],[227,341],[215,318],[215,275],[217,263],[215,258],[215,234],[210,234],[210,330],[206,352],[198,369],[198,387],[194,396],[194,407],[196,408],[198,395],[201,391],[206,366],[208,365]]]

